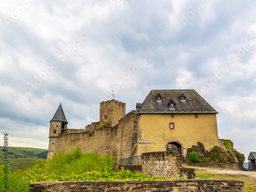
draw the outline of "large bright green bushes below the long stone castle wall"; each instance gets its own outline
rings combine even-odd
[[[38,174],[54,174],[56,176],[80,175],[93,170],[97,172],[112,170],[113,164],[114,156],[112,157],[108,154],[100,156],[95,152],[82,154],[80,148],[77,147],[70,153],[58,152],[53,155],[52,159],[47,161],[37,160],[34,166],[28,169],[28,174],[31,176]]]

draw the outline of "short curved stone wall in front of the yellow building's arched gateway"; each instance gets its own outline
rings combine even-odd
[[[177,152],[150,152],[141,154],[142,172],[153,177],[181,177],[181,155]]]

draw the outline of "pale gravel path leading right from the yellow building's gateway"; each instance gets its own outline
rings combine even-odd
[[[227,169],[217,169],[217,168],[209,168],[209,167],[197,167],[197,166],[190,166],[190,165],[184,165],[184,167],[207,170],[208,172],[212,172],[216,174],[233,175],[233,176],[246,175],[256,179],[256,172],[244,172],[243,170],[227,170]]]

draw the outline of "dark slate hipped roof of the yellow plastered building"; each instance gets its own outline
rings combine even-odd
[[[156,100],[156,96],[162,96],[161,101]],[[180,100],[180,96],[186,97],[185,101]],[[169,109],[168,103],[173,100],[175,108]],[[194,89],[177,90],[151,90],[147,95],[141,108],[137,111],[142,113],[215,113],[218,112],[204,100]]]

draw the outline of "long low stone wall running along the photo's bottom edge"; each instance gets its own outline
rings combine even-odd
[[[233,180],[154,180],[154,181],[59,181],[30,184],[30,192],[117,192],[117,191],[189,191],[241,192],[242,181]]]

